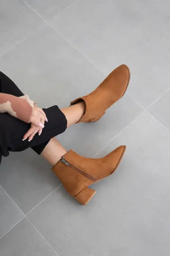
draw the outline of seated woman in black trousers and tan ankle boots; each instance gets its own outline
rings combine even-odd
[[[67,151],[55,136],[73,124],[98,121],[124,95],[129,79],[129,68],[123,64],[93,92],[72,101],[70,107],[41,109],[0,72],[0,162],[9,151],[32,148],[52,164],[68,193],[80,204],[87,204],[96,193],[88,186],[115,172],[126,146],[103,158],[86,158]]]

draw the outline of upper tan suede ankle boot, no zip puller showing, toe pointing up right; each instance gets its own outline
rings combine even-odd
[[[117,100],[122,98],[128,87],[130,70],[122,64],[114,69],[106,79],[90,94],[80,97],[70,103],[74,105],[81,100],[85,101],[85,114],[77,123],[98,121]]]

